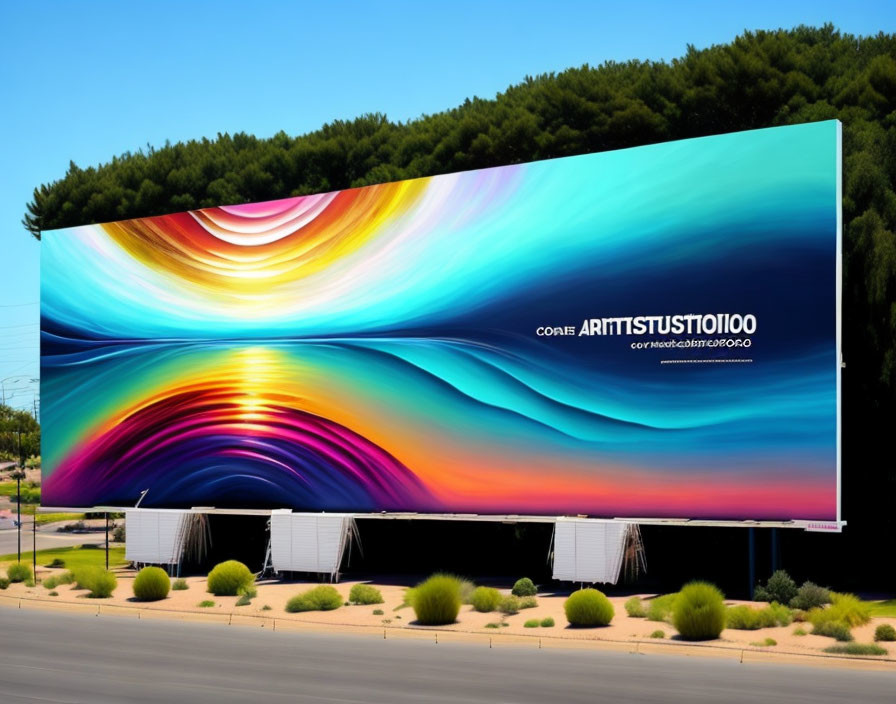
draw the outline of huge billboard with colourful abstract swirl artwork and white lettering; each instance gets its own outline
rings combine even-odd
[[[44,503],[839,520],[840,125],[75,227]]]

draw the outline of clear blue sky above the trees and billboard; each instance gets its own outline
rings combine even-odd
[[[832,22],[896,31],[896,2],[0,2],[0,383],[38,394],[35,186],[146,144],[302,134],[383,112],[407,120],[526,75],[672,59],[744,29]],[[12,377],[12,378],[10,378]]]

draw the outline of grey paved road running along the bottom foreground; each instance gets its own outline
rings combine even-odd
[[[893,704],[896,674],[277,633],[0,607],[13,702]]]

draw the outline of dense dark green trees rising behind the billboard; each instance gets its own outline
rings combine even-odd
[[[74,163],[34,191],[41,230],[283,198],[463,169],[774,125],[843,122],[844,559],[894,532],[886,456],[896,421],[896,35],[832,26],[747,32],[671,62],[526,78],[493,100],[395,123],[371,114],[297,137],[220,134]],[[872,491],[868,491],[873,487]],[[861,517],[861,521],[856,520]],[[839,546],[839,543],[838,543]],[[847,570],[848,572],[850,570]]]

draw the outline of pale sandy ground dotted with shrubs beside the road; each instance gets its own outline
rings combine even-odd
[[[39,567],[38,576],[40,579],[46,579],[52,574],[58,574],[63,571]],[[40,584],[32,588],[28,588],[24,584],[11,584],[7,590],[0,591],[0,601],[5,602],[7,606],[10,605],[10,602],[21,599],[26,607],[43,606],[46,608],[71,610],[96,609],[99,607],[103,613],[118,612],[122,615],[127,613],[134,615],[139,611],[139,617],[143,618],[208,618],[246,625],[274,627],[276,629],[293,627],[327,631],[349,630],[382,633],[383,637],[400,635],[422,636],[424,634],[428,634],[426,637],[432,637],[434,631],[443,633],[445,636],[449,634],[458,636],[461,634],[476,634],[487,638],[490,644],[492,640],[516,639],[527,642],[537,641],[539,647],[542,643],[568,646],[591,644],[598,647],[601,645],[615,645],[615,649],[618,649],[619,644],[625,644],[624,647],[626,648],[633,647],[636,644],[643,644],[646,648],[648,646],[671,646],[673,643],[680,643],[676,638],[677,633],[675,629],[670,624],[629,617],[623,607],[626,599],[629,598],[627,596],[610,598],[616,613],[611,624],[603,628],[569,627],[563,612],[563,602],[567,595],[539,594],[536,607],[523,609],[518,614],[512,616],[502,616],[498,612],[479,613],[474,611],[471,606],[465,605],[461,607],[457,622],[434,629],[432,627],[420,626],[415,622],[413,609],[402,607],[405,587],[395,584],[375,585],[380,589],[385,599],[383,604],[343,606],[333,611],[290,614],[285,610],[287,600],[312,586],[316,586],[317,582],[262,581],[257,584],[258,596],[252,600],[252,603],[248,606],[238,607],[236,606],[237,597],[215,597],[207,593],[205,590],[205,577],[187,577],[186,581],[189,589],[172,591],[162,601],[152,603],[138,602],[133,598],[131,586],[135,572],[122,568],[117,570],[117,574],[118,587],[113,596],[108,599],[87,598],[87,593],[84,590],[76,590],[68,585],[58,586],[55,590],[58,592],[58,596],[53,597],[49,596],[50,590]],[[347,599],[349,590],[354,584],[357,584],[357,582],[346,581],[334,586],[343,596],[343,599]],[[509,594],[508,589],[501,591]],[[645,594],[641,596],[646,600],[653,595]],[[204,600],[214,601],[214,606],[199,607],[199,602]],[[726,603],[734,605],[748,602],[728,601]],[[265,606],[269,606],[270,609],[265,609]],[[383,613],[375,614],[375,610],[381,610]],[[523,625],[529,619],[541,621],[541,619],[548,616],[553,617],[555,626],[525,628]],[[276,623],[274,623],[274,620],[276,620]],[[499,625],[498,628],[487,628],[486,624],[489,623],[506,623],[506,626]],[[894,618],[873,619],[871,623],[853,629],[856,642],[873,642],[874,629],[880,623],[890,623],[896,627],[896,619]],[[699,649],[700,652],[698,654],[706,655],[712,654],[709,651],[715,651],[717,654],[727,651],[732,656],[736,656],[739,653],[740,657],[743,658],[746,651],[751,654],[751,657],[755,653],[762,653],[768,654],[769,658],[767,659],[773,660],[778,660],[780,656],[787,654],[791,656],[816,656],[816,659],[817,656],[825,656],[824,662],[830,661],[832,658],[826,656],[822,651],[835,641],[822,636],[794,635],[794,631],[800,626],[805,628],[806,631],[811,631],[811,625],[799,623],[780,628],[763,628],[756,631],[726,629],[717,640],[689,647],[695,650],[695,652],[696,649]],[[664,631],[665,638],[662,640],[652,639],[650,635],[656,630]],[[754,645],[765,638],[775,639],[777,645],[772,647]],[[878,663],[880,668],[896,671],[896,644],[880,643],[879,645],[887,648],[889,654],[885,657],[875,657],[873,660]],[[707,648],[706,646],[712,647]],[[638,645],[638,647],[640,648],[641,646]],[[754,659],[756,658],[754,657]],[[844,660],[845,658],[833,659]]]

